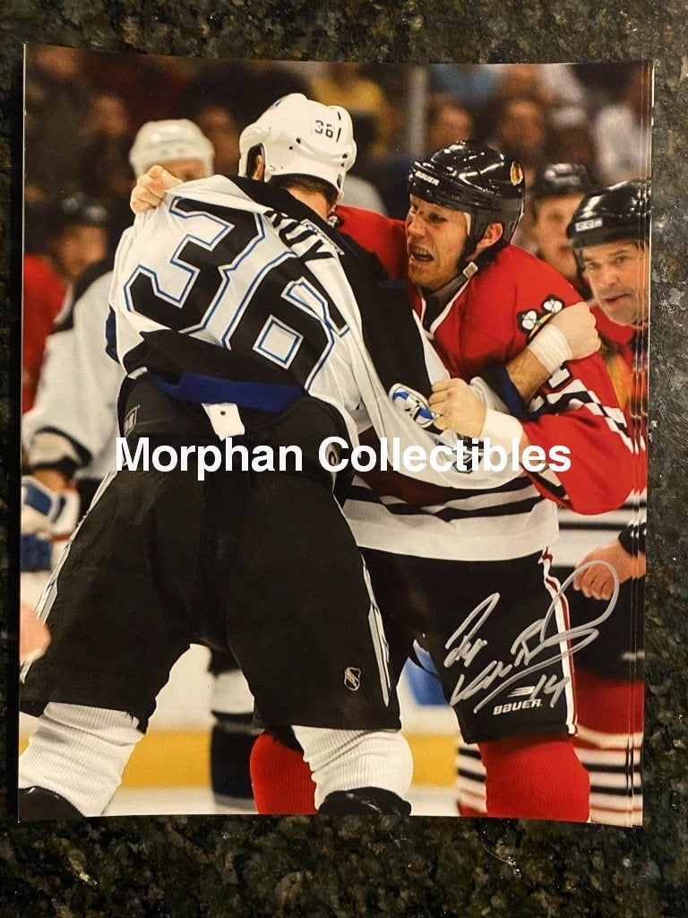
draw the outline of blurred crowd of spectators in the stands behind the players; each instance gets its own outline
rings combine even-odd
[[[600,184],[649,171],[648,64],[433,64],[415,94],[411,73],[396,64],[206,62],[30,47],[25,291],[33,285],[50,300],[42,310],[48,328],[65,290],[112,251],[130,221],[128,154],[151,120],[192,119],[213,144],[216,172],[231,176],[241,130],[275,99],[302,92],[345,106],[358,157],[344,202],[395,218],[405,217],[411,162],[455,140],[487,140],[521,163],[527,185],[548,162],[583,163]],[[515,241],[538,249],[531,213]]]

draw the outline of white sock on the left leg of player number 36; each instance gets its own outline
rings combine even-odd
[[[125,711],[51,702],[19,756],[20,788],[53,790],[84,816],[100,816],[143,736]]]

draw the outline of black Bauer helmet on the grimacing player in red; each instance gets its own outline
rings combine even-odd
[[[483,239],[490,223],[502,223],[504,243],[511,240],[523,216],[525,189],[520,164],[482,140],[452,143],[414,162],[408,176],[409,194],[471,215],[467,252]]]

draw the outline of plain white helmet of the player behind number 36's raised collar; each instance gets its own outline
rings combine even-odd
[[[171,160],[200,160],[205,174],[212,175],[214,157],[213,144],[188,118],[147,121],[129,151],[129,163],[136,175],[142,175],[156,163]]]

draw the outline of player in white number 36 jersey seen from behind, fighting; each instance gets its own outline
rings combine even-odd
[[[299,200],[327,214],[355,154],[347,114],[317,108],[285,170],[289,192],[240,180],[186,185],[118,252],[117,353],[128,371],[120,405],[132,445],[295,438],[305,472],[206,482],[131,472],[105,483],[61,560],[59,589],[44,597],[53,642],[22,692],[28,711],[43,711],[20,765],[24,818],[103,811],[192,641],[228,644],[263,720],[294,725],[321,812],[408,810],[410,759],[383,633],[314,447],[327,434],[355,441],[357,412],[382,436],[428,446],[442,438],[390,403],[366,363],[356,303],[376,298],[376,285]],[[407,307],[400,326],[402,316],[406,350],[397,365],[381,347],[379,372],[397,384],[415,374],[427,391],[433,355]],[[417,365],[398,376],[414,365],[411,353]],[[75,644],[94,617],[96,643]]]

